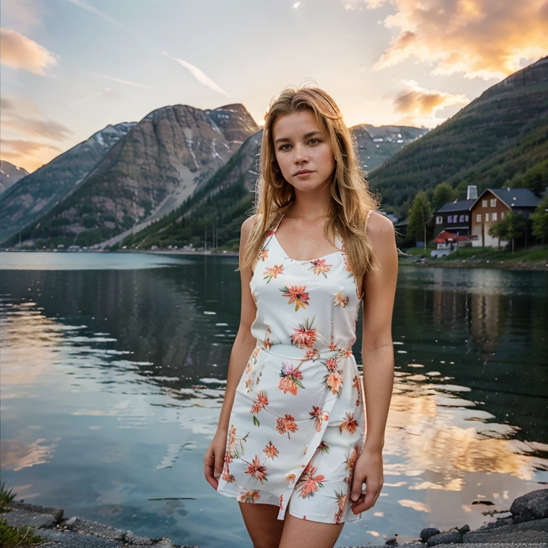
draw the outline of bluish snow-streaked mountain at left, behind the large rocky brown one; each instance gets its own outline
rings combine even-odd
[[[1,193],[0,240],[18,233],[61,201],[135,124],[106,126]]]

